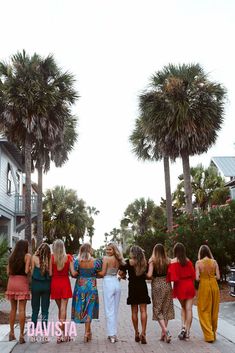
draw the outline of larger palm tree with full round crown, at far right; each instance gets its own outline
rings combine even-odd
[[[145,134],[172,160],[182,158],[186,211],[192,213],[189,156],[215,143],[223,122],[225,89],[209,81],[199,64],[165,66],[140,96]]]

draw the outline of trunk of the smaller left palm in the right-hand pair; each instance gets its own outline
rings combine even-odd
[[[173,213],[172,213],[172,198],[171,198],[171,180],[170,180],[170,165],[169,157],[163,158],[164,174],[165,174],[165,190],[166,190],[166,216],[167,229],[169,232],[173,230]]]

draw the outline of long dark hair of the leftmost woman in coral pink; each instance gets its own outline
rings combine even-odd
[[[14,275],[25,266],[25,255],[29,250],[28,240],[18,240],[9,258],[9,273]]]

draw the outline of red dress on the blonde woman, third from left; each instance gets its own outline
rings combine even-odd
[[[67,255],[67,261],[62,270],[57,269],[54,255],[51,256],[52,261],[52,278],[51,278],[51,299],[67,299],[72,298],[72,289],[69,279],[69,265],[73,261],[71,255]]]

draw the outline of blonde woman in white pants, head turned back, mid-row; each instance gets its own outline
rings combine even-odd
[[[121,296],[120,279],[117,276],[119,267],[124,259],[117,245],[110,243],[106,247],[103,258],[102,271],[99,275],[103,278],[104,310],[106,317],[107,335],[111,343],[117,342],[118,307]]]

